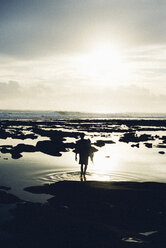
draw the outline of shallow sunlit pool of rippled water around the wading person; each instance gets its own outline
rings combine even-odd
[[[7,143],[11,141],[9,138]],[[86,178],[81,180],[166,182],[165,155],[158,154],[158,148],[148,149],[143,144],[139,149],[132,148],[130,144],[116,140],[115,144],[106,144],[98,150],[94,154],[94,163],[89,162]],[[18,160],[11,159],[9,154],[0,156],[1,185],[10,186],[11,193],[21,198],[24,195],[23,199],[29,200],[32,195],[25,193],[24,187],[62,180],[80,181],[80,165],[74,160],[72,150],[62,153],[61,157],[41,152],[23,153]],[[4,160],[5,157],[8,160]]]

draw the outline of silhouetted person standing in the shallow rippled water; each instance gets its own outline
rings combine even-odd
[[[76,142],[76,155],[75,159],[77,161],[77,154],[79,154],[79,164],[81,165],[81,176],[86,174],[88,159],[90,156],[91,142],[89,139],[84,139],[85,134],[80,134],[80,140]]]

